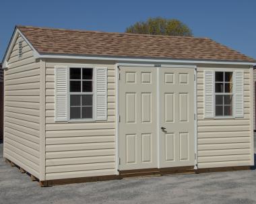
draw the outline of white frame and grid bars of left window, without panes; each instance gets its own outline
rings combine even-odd
[[[72,68],[77,68],[77,67],[72,67]],[[92,79],[83,79],[83,69],[92,69]],[[69,73],[70,73],[71,68],[69,68]],[[79,118],[70,118],[72,120],[75,119],[93,119],[94,118],[94,111],[93,111],[93,104],[94,104],[94,70],[93,68],[80,68],[80,79],[70,79],[70,74],[69,74],[69,85],[70,81],[80,81],[80,92],[71,92],[70,91],[70,86],[69,86],[69,118],[71,115],[71,107],[79,107],[80,108],[80,117]],[[82,81],[92,81],[92,91],[91,92],[83,92],[82,90]],[[79,95],[80,96],[80,105],[71,105],[71,95]],[[92,105],[82,105],[82,95],[92,95]],[[82,108],[83,107],[92,107],[92,117],[82,117]]]

